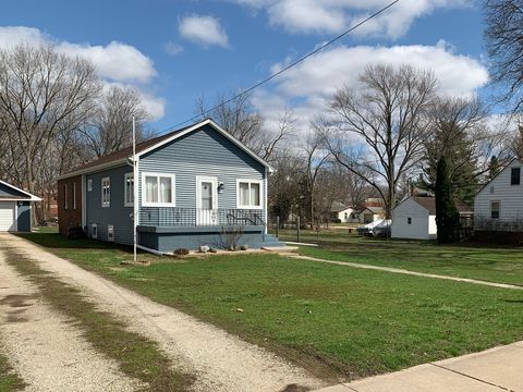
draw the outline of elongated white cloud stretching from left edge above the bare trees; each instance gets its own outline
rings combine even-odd
[[[148,93],[149,84],[157,75],[157,71],[153,61],[135,47],[118,41],[106,46],[73,44],[58,40],[34,27],[0,27],[0,48],[21,44],[51,45],[65,56],[86,58],[93,62],[98,75],[107,85],[119,84],[135,88],[141,94],[144,108],[149,112],[151,120],[163,117],[165,101]]]

